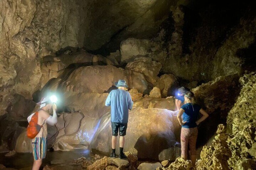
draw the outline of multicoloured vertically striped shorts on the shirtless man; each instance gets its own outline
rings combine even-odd
[[[47,150],[46,138],[34,138],[32,140],[32,149],[34,160],[45,158]]]

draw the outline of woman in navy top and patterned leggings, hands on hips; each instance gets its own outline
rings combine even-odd
[[[181,125],[181,157],[187,159],[188,144],[190,147],[190,158],[192,165],[196,163],[196,142],[197,142],[197,125],[205,120],[209,115],[199,105],[194,103],[194,93],[187,91],[184,95],[186,104],[181,106],[177,115],[178,121]],[[201,113],[203,116],[197,120]],[[183,115],[183,120],[181,116]]]

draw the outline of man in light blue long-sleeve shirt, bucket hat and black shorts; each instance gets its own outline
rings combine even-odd
[[[126,135],[126,129],[128,124],[128,113],[133,108],[133,101],[130,93],[125,91],[126,85],[125,80],[119,80],[115,84],[118,89],[112,90],[106,100],[105,105],[111,106],[111,127],[112,127],[112,153],[111,158],[116,157],[116,144],[117,135],[119,130],[120,135],[120,155],[119,159],[124,159],[126,156],[123,153],[124,136]]]

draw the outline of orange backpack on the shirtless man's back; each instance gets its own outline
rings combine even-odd
[[[28,138],[34,139],[37,136],[37,134],[39,133],[39,131],[41,130],[41,128],[43,127],[43,125],[38,125],[37,121],[38,121],[38,112],[36,112],[31,117],[31,120],[27,126],[27,137]]]

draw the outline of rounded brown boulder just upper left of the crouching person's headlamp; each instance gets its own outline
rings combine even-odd
[[[168,97],[177,88],[178,80],[172,74],[164,74],[158,79],[155,87],[161,90],[162,97]]]

